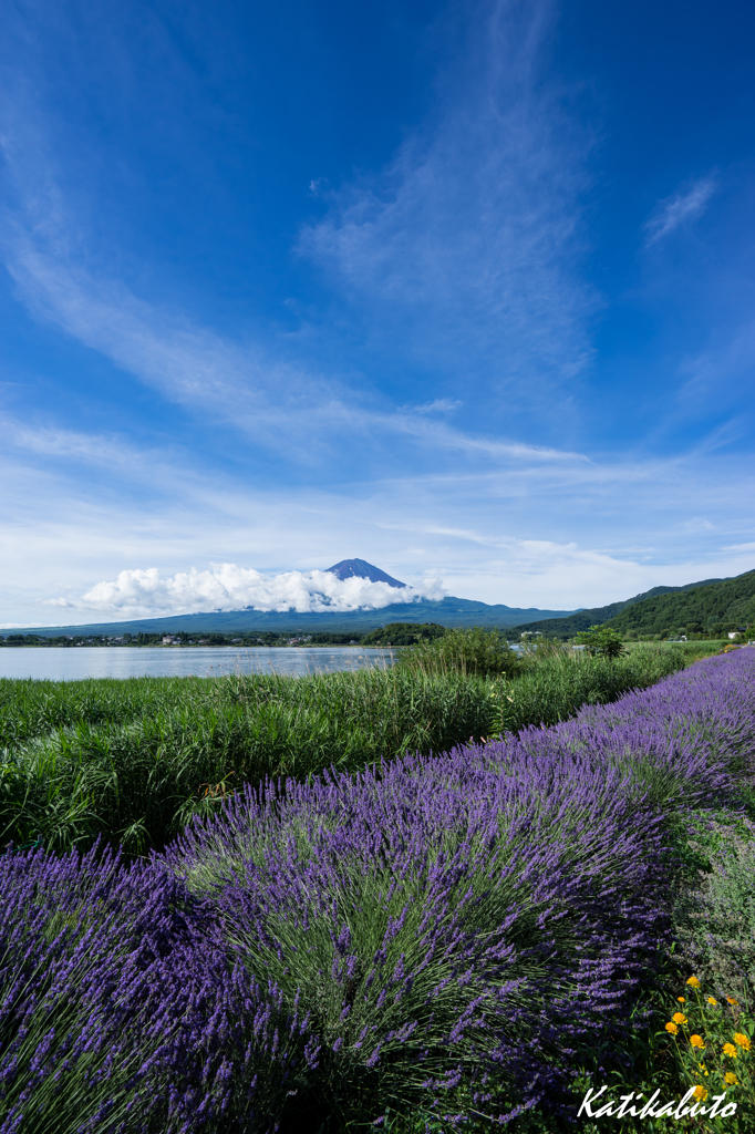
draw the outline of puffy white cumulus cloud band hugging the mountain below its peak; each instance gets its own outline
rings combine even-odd
[[[93,610],[125,617],[187,615],[209,610],[277,610],[341,612],[379,609],[419,598],[441,599],[439,579],[421,587],[398,587],[366,578],[339,579],[326,570],[263,575],[236,564],[212,564],[209,570],[179,572],[161,577],[156,567],[121,570],[111,582],[97,583],[80,599],[51,599],[48,606]]]

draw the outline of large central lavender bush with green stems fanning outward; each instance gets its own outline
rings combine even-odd
[[[464,1081],[515,1114],[626,1021],[665,932],[658,816],[622,782],[558,751],[508,775],[405,759],[239,798],[167,860],[213,895],[235,957],[312,1012],[330,1109],[374,1119]]]

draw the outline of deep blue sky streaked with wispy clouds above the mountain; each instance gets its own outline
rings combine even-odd
[[[755,567],[750,3],[6,11],[0,625]]]

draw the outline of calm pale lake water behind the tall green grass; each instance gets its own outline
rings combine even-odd
[[[221,677],[226,674],[332,674],[385,667],[391,650],[235,646],[20,646],[0,649],[0,677],[75,682],[84,677]]]

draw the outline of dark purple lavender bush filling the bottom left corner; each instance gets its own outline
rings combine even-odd
[[[228,965],[158,864],[0,860],[0,1131],[268,1131],[306,1019]]]

